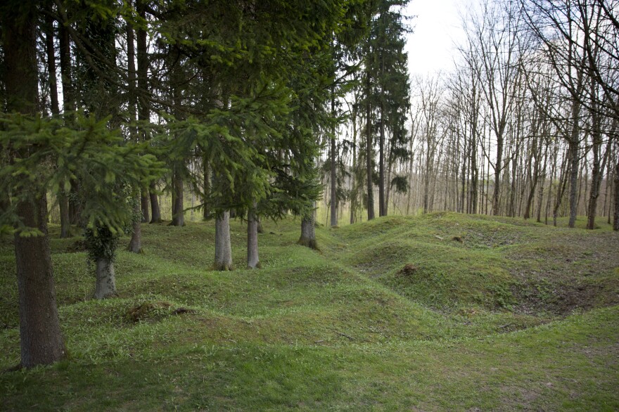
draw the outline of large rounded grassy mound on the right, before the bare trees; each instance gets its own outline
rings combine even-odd
[[[521,219],[434,213],[332,231],[328,253],[414,302],[545,318],[619,304],[619,237]]]

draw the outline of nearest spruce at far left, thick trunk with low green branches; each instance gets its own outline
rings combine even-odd
[[[80,181],[82,219],[87,228],[112,233],[125,226],[113,187],[119,174],[129,183],[157,176],[153,157],[143,146],[120,144],[124,139],[110,118],[96,120],[79,112],[65,122],[42,117],[37,96],[37,2],[11,1],[1,8],[7,70],[7,108],[1,116],[0,147],[7,153],[0,169],[0,192],[11,193],[0,216],[0,227],[15,233],[15,261],[20,300],[22,366],[63,358],[49,245],[46,191],[68,193],[70,181]],[[94,51],[93,51],[94,53]],[[85,56],[88,56],[85,54]]]

